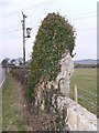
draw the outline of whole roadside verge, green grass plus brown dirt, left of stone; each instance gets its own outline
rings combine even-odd
[[[53,113],[40,112],[28,102],[25,89],[11,73],[2,88],[2,131],[52,131],[56,126]]]

